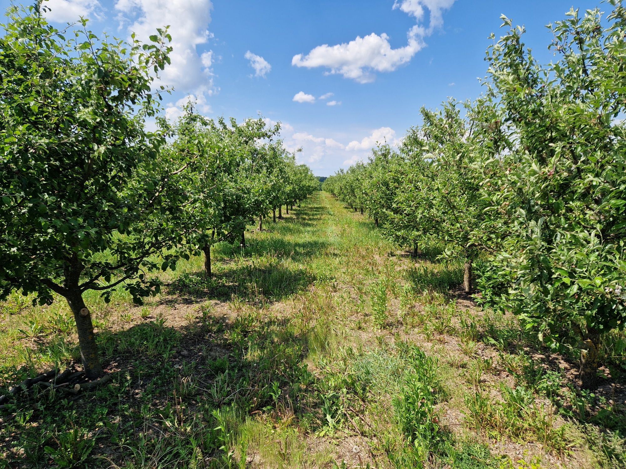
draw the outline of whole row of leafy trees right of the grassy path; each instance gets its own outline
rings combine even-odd
[[[572,9],[550,26],[548,65],[503,17],[483,96],[422,109],[397,151],[374,149],[323,186],[414,255],[444,243],[442,258],[466,260],[466,291],[478,261],[480,300],[550,345],[580,348],[587,387],[600,335],[626,318],[626,10],[610,3],[605,19]]]

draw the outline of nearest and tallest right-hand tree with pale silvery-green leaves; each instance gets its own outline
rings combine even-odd
[[[525,49],[523,28],[488,56],[509,144],[484,162],[482,194],[513,282],[506,301],[541,338],[581,348],[585,388],[597,383],[600,336],[626,320],[626,129],[615,120],[626,111],[626,11],[612,3],[606,20],[572,10],[555,23],[548,66]]]

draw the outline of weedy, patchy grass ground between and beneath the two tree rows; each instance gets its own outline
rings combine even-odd
[[[145,306],[89,293],[111,385],[11,401],[0,468],[626,466],[623,335],[610,389],[583,393],[568,356],[457,293],[441,246],[413,260],[325,193],[265,228]],[[60,299],[0,317],[1,388],[78,360]]]

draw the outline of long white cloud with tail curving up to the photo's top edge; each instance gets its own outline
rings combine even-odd
[[[376,78],[375,72],[394,71],[424,48],[424,37],[443,24],[443,11],[453,3],[454,0],[396,0],[393,8],[413,16],[418,22],[409,29],[408,43],[404,47],[393,49],[387,34],[372,33],[362,38],[357,36],[349,43],[317,46],[306,55],[295,55],[291,64],[305,68],[324,67],[328,69],[327,74],[341,74],[359,83],[369,83]],[[429,11],[428,27],[422,24],[424,8]]]

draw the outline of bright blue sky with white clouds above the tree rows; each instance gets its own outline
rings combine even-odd
[[[573,3],[576,1],[576,3]],[[19,0],[14,3],[20,3]],[[31,2],[24,2],[29,4]],[[3,10],[8,0],[0,0]],[[419,108],[481,93],[488,36],[500,15],[526,26],[526,44],[552,55],[545,25],[600,5],[585,0],[49,0],[49,21],[79,15],[90,29],[140,38],[170,25],[175,118],[188,96],[210,117],[261,113],[280,121],[287,148],[328,176],[419,124]],[[332,93],[332,94],[331,94]],[[332,104],[332,105],[329,105]]]

